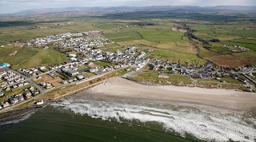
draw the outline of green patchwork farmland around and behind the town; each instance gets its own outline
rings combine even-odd
[[[220,16],[222,15],[222,16]],[[103,36],[115,44],[97,49],[114,52],[123,46],[135,45],[142,49],[154,49],[150,53],[153,59],[177,62],[186,61],[190,65],[202,65],[213,61],[216,65],[238,67],[255,65],[256,26],[254,14],[180,14],[166,12],[134,11],[126,14],[59,14],[47,15],[46,18],[2,18],[0,22],[0,45],[3,41],[20,41],[26,43],[35,37],[64,32],[101,30]],[[153,24],[152,24],[153,23]],[[43,29],[42,27],[46,27]],[[191,30],[197,40],[189,39],[186,31]],[[198,41],[201,39],[206,41]],[[214,42],[212,39],[218,39]],[[242,53],[233,53],[234,47],[224,44],[240,45],[250,49]],[[15,57],[7,56],[17,49],[8,45],[1,48],[1,62],[10,62],[13,67],[23,68],[36,65],[58,64],[66,61],[66,55],[53,49],[20,49]],[[22,57],[20,53],[26,53]],[[46,57],[45,57],[46,55]],[[30,60],[30,57],[31,58]],[[35,61],[34,59],[39,59]]]

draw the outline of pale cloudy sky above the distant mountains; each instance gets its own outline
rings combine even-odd
[[[256,2],[255,0],[0,0],[0,14],[75,6],[256,6]]]

